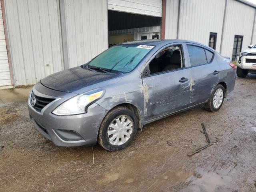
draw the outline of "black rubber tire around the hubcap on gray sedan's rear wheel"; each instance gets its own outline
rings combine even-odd
[[[216,106],[216,105],[214,106],[214,104],[215,104],[214,95],[217,94],[217,91],[219,91],[219,89],[222,90],[222,101],[221,101],[221,104],[218,106],[219,102],[218,102],[218,100],[217,100],[217,102],[218,102],[218,103],[216,103],[217,106]],[[204,104],[204,108],[205,108],[207,111],[210,111],[210,112],[216,112],[216,111],[218,111],[218,110],[221,108],[221,106],[222,106],[222,104],[223,104],[223,102],[224,102],[224,95],[225,95],[225,89],[224,89],[224,87],[223,87],[221,84],[218,84],[218,85],[214,88],[214,90],[213,90],[213,92],[212,92],[210,98],[208,99],[207,103]]]

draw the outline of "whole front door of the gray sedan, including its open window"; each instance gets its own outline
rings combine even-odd
[[[190,106],[190,69],[185,68],[182,45],[162,49],[142,78],[146,121]]]

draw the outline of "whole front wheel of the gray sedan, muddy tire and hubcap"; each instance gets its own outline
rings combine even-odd
[[[129,123],[128,120],[131,122]],[[121,125],[122,123],[129,124],[126,126],[126,128],[120,128],[117,121],[119,121]],[[112,128],[111,126],[115,128]],[[121,130],[127,128],[129,129]],[[104,117],[98,133],[98,143],[108,151],[121,150],[123,148],[126,148],[132,142],[137,133],[137,129],[138,119],[134,112],[132,112],[132,110],[130,110],[129,108],[123,106],[116,107],[110,110],[110,112],[108,112],[108,114]],[[114,134],[110,135],[111,131],[114,132]],[[118,134],[119,137],[116,136]],[[130,137],[128,137],[128,134],[130,135]],[[114,137],[116,138],[113,140]]]

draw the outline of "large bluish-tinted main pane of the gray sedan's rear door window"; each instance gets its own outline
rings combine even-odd
[[[187,45],[187,47],[188,47],[188,53],[190,56],[191,66],[197,66],[200,64],[207,63],[204,48],[194,46],[194,45]]]

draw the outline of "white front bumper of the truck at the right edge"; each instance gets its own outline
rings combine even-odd
[[[236,65],[241,69],[256,70],[256,56],[237,56]]]

